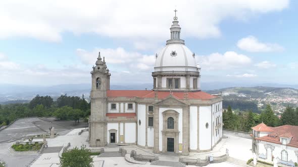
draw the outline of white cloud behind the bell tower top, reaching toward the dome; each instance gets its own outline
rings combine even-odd
[[[107,64],[117,65],[117,69],[124,67],[126,68],[125,71],[152,70],[155,63],[154,55],[142,55],[138,52],[128,52],[121,47],[116,49],[95,48],[91,52],[84,49],[77,49],[78,56],[82,62],[88,65],[95,64],[98,51],[101,52],[102,58],[105,57]]]

